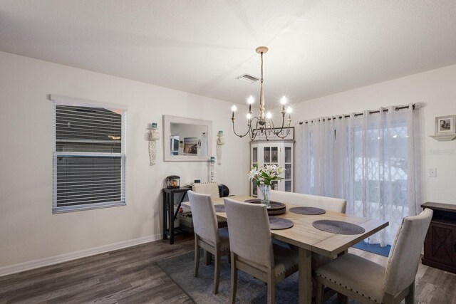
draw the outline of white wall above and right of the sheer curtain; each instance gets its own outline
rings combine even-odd
[[[308,100],[294,106],[294,121],[362,112],[389,105],[423,103],[420,108],[423,145],[423,202],[456,204],[456,140],[437,142],[435,117],[456,115],[456,65]],[[437,168],[437,177],[429,169]]]

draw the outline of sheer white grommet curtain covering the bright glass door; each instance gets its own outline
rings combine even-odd
[[[396,108],[320,117],[296,132],[296,192],[343,198],[348,214],[389,221],[368,239],[381,246],[421,204],[418,111]]]

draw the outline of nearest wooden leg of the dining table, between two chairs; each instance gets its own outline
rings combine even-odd
[[[312,303],[312,253],[299,247],[299,303]]]

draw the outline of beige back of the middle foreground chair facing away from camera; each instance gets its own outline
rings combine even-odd
[[[261,266],[274,267],[266,206],[227,198],[224,199],[224,203],[231,251]]]

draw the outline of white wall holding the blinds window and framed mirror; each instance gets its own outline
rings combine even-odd
[[[53,110],[48,94],[128,106],[126,206],[52,214]],[[206,162],[163,162],[161,140],[157,164],[149,165],[146,127],[157,122],[162,137],[164,114],[212,120],[214,155],[217,131],[224,130],[223,162],[214,167],[215,179],[231,193],[248,194],[249,143],[232,134],[230,106],[0,52],[0,274],[1,268],[18,263],[52,263],[91,248],[160,239],[165,177],[177,174],[181,185],[209,179]]]

